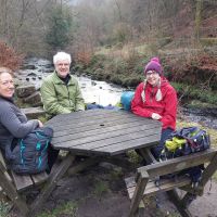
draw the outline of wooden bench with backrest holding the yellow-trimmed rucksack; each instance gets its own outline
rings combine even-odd
[[[183,169],[207,164],[202,174],[199,186],[191,184],[191,178],[184,175]],[[191,155],[154,162],[153,164],[137,169],[137,176],[125,179],[127,191],[131,200],[129,217],[139,215],[140,203],[149,195],[157,192],[167,192],[170,201],[175,204],[181,216],[191,217],[188,206],[195,195],[202,195],[208,179],[217,169],[217,150],[208,149]],[[163,178],[164,175],[178,173],[174,178]],[[162,178],[161,178],[162,177]],[[157,180],[157,184],[156,184]],[[177,189],[186,191],[181,199]]]

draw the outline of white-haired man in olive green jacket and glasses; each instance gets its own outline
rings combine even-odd
[[[78,81],[69,74],[71,55],[58,52],[53,56],[55,71],[43,79],[41,97],[43,108],[51,118],[58,114],[85,110]]]

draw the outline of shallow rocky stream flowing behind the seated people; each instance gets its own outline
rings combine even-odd
[[[21,82],[34,84],[40,89],[42,78],[53,72],[53,65],[44,59],[31,58],[25,60],[23,67],[17,72],[16,79]],[[120,100],[122,92],[126,89],[105,81],[91,80],[90,77],[73,74],[79,81],[82,95],[87,103],[95,102],[101,105],[115,105]],[[179,118],[200,123],[203,126],[217,129],[216,108],[187,108],[179,107]]]

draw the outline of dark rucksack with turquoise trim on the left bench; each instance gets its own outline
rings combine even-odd
[[[37,128],[16,145],[5,148],[10,168],[16,174],[38,174],[48,168],[48,148],[53,136],[50,127]]]

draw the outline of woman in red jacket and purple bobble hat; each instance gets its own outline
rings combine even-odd
[[[144,76],[144,81],[136,89],[131,111],[139,116],[162,122],[159,144],[152,149],[152,153],[158,158],[165,140],[176,129],[177,93],[163,76],[158,58],[151,59],[146,64]]]

